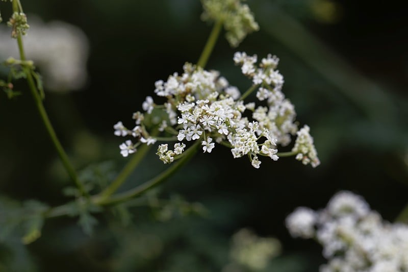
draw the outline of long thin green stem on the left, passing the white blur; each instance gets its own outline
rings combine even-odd
[[[18,0],[13,0],[13,11],[18,12]],[[17,44],[18,44],[18,51],[20,53],[20,59],[21,61],[25,61],[25,53],[24,53],[24,46],[21,38],[21,34],[17,34]],[[41,119],[44,123],[45,129],[48,132],[49,137],[51,138],[52,142],[54,143],[54,146],[57,150],[57,153],[62,161],[62,164],[64,165],[66,171],[68,172],[69,177],[71,180],[77,185],[78,189],[81,191],[82,194],[87,195],[87,192],[83,186],[83,184],[79,181],[77,172],[75,172],[75,169],[71,165],[67,154],[64,151],[64,148],[62,147],[60,141],[58,140],[57,134],[55,133],[55,130],[53,128],[53,125],[51,124],[48,115],[45,111],[44,105],[42,104],[41,97],[39,96],[36,84],[34,82],[34,79],[31,75],[31,71],[28,68],[23,67],[26,75],[27,75],[27,82],[31,91],[31,94],[34,98],[35,104],[37,106],[37,110],[40,113]]]

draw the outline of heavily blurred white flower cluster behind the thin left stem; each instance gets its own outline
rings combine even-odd
[[[88,39],[71,24],[42,22],[30,15],[30,32],[24,36],[25,55],[41,70],[47,90],[69,91],[84,87],[87,80]],[[0,26],[0,58],[19,59],[10,29]]]

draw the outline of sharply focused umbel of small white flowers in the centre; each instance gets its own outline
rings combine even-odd
[[[234,158],[248,156],[251,164],[259,168],[260,156],[278,159],[277,144],[283,146],[291,141],[291,135],[297,133],[297,140],[292,150],[304,164],[319,165],[319,159],[309,127],[298,131],[295,122],[295,110],[282,92],[283,76],[275,70],[278,59],[268,55],[257,65],[257,56],[236,53],[236,64],[241,65],[244,75],[252,80],[257,98],[264,106],[256,103],[244,103],[237,87],[220,77],[218,71],[207,71],[186,63],[182,75],[174,73],[166,82],[155,83],[155,93],[165,97],[167,102],[156,105],[151,96],[146,97],[142,108],[145,114],[154,114],[154,110],[164,111],[156,114],[161,118],[160,131],[172,134],[179,142],[173,145],[161,144],[157,155],[164,163],[171,163],[184,152],[183,141],[201,141],[203,152],[211,153],[216,143],[230,147]],[[165,116],[165,117],[160,117]],[[121,154],[136,152],[141,143],[154,144],[156,138],[150,136],[144,126],[144,114],[133,115],[136,126],[129,130],[122,122],[114,126],[115,135],[131,135],[137,139],[120,145]]]

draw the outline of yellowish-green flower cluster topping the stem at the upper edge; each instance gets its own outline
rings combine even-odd
[[[201,0],[205,21],[221,21],[226,30],[225,38],[231,46],[237,47],[241,41],[259,25],[247,5],[240,0]]]

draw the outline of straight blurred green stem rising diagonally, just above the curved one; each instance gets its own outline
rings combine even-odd
[[[104,191],[99,193],[100,199],[107,199],[111,194],[116,192],[116,190],[126,181],[127,177],[129,177],[133,170],[139,165],[140,161],[144,158],[144,156],[149,151],[151,145],[142,145],[140,149],[136,152],[135,155],[132,156],[132,159],[127,162],[127,164],[123,167],[122,171],[116,177],[116,179],[107,187]]]

